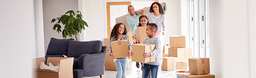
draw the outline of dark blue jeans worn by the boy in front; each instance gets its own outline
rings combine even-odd
[[[151,78],[156,78],[158,65],[149,65],[144,63],[143,70],[142,70],[142,78],[148,78],[149,71],[151,71]]]

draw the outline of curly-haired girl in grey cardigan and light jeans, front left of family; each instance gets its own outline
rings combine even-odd
[[[123,23],[117,23],[112,29],[112,32],[110,35],[110,44],[109,44],[109,52],[110,52],[111,57],[114,59],[114,62],[115,62],[116,68],[117,68],[116,78],[126,78],[125,71],[126,71],[128,57],[114,58],[114,56],[112,54],[111,42],[116,41],[116,40],[123,40],[123,39],[128,40],[126,27]],[[128,49],[129,49],[128,55],[130,57],[131,44],[130,44],[129,40],[128,40]]]

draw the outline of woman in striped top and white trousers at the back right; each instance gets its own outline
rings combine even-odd
[[[160,52],[159,52],[160,59],[159,59],[159,69],[158,69],[159,73],[158,74],[160,74],[162,63],[163,63],[163,41],[164,41],[164,35],[166,33],[166,26],[165,26],[166,16],[164,15],[163,7],[158,2],[152,3],[149,12],[150,12],[150,13],[148,13],[149,22],[156,23],[156,25],[158,26],[157,32],[163,33],[163,34],[159,34],[160,41],[161,41],[161,47],[160,47]]]

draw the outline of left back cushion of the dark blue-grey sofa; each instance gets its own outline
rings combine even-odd
[[[51,38],[49,42],[46,55],[67,55],[69,48],[69,41],[74,39],[55,39]]]

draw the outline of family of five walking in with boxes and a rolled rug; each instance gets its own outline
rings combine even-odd
[[[142,66],[142,78],[157,78],[157,74],[161,73],[161,66],[163,62],[163,41],[164,36],[166,34],[166,16],[163,11],[163,7],[160,3],[154,2],[152,3],[149,13],[147,16],[144,14],[144,10],[140,11],[140,14],[135,14],[135,9],[133,6],[128,7],[129,16],[126,17],[127,23],[131,28],[131,33],[133,36],[133,43],[147,43],[147,44],[155,44],[156,48],[150,53],[144,53],[142,56],[147,58],[149,56],[156,55],[155,62],[149,63],[141,63]],[[146,35],[148,36],[143,41],[139,41],[136,39],[135,29],[138,26],[146,26]],[[126,78],[126,65],[128,61],[128,57],[123,58],[114,58],[111,49],[111,42],[116,40],[127,39],[127,30],[123,23],[117,23],[111,32],[110,35],[110,47],[109,52],[112,58],[114,59],[117,75],[116,78]],[[156,34],[157,33],[157,34]],[[128,40],[128,55],[132,56],[133,52],[131,51],[131,43]],[[136,62],[136,67],[139,68],[139,62]]]

